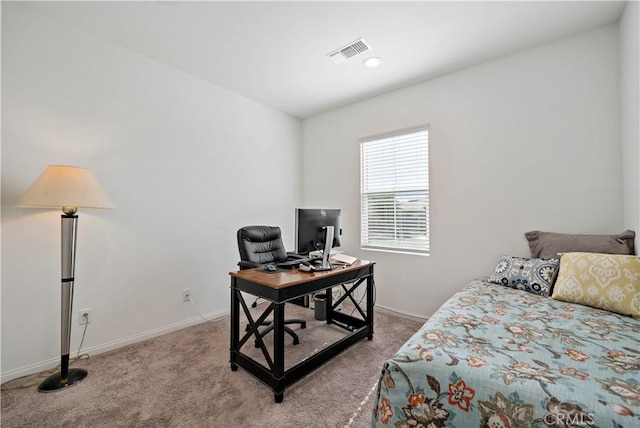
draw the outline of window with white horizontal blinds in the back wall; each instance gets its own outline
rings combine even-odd
[[[362,249],[429,254],[429,128],[360,141]]]

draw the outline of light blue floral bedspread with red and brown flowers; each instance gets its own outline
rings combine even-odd
[[[640,427],[640,321],[474,280],[384,364],[372,426]]]

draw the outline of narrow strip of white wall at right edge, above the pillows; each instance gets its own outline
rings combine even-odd
[[[622,159],[624,224],[636,231],[640,254],[640,5],[628,2],[620,19],[620,93],[622,95]]]

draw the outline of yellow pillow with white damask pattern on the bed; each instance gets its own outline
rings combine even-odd
[[[564,253],[551,297],[640,319],[640,257]]]

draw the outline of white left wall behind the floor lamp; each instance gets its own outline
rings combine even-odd
[[[14,208],[49,164],[93,170],[116,205],[80,210],[79,309],[96,353],[228,312],[235,231],[293,242],[301,122],[153,59],[2,4],[2,381],[59,361],[60,214]]]

